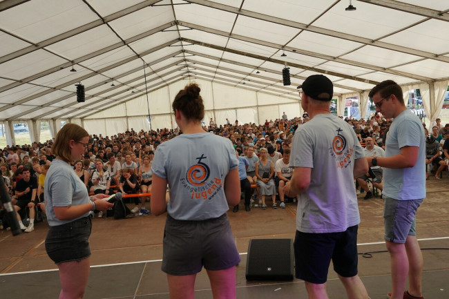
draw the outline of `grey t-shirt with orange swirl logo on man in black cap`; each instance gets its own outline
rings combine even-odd
[[[335,233],[360,223],[353,169],[364,157],[354,129],[334,115],[316,115],[296,130],[290,165],[312,168],[298,200],[298,231]]]

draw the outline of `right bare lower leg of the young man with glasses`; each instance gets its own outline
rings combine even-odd
[[[423,276],[423,254],[416,235],[408,235],[405,241],[405,250],[409,264],[408,293],[414,297],[421,297],[421,282]]]

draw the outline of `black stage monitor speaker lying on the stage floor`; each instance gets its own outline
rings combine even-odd
[[[247,280],[293,280],[293,240],[249,240],[245,276]]]

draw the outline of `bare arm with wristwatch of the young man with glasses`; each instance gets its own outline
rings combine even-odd
[[[419,147],[418,146],[403,146],[401,153],[391,157],[377,157],[377,165],[386,168],[408,168],[413,167],[418,160]],[[367,157],[369,166],[372,166],[372,158]]]

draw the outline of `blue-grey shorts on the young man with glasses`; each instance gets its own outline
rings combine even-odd
[[[394,200],[385,195],[383,197],[385,240],[403,244],[408,235],[417,235],[415,215],[423,200]]]

